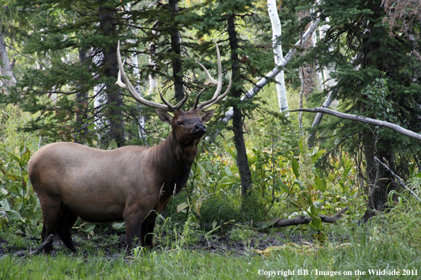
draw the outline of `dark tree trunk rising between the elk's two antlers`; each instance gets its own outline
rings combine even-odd
[[[183,64],[181,61],[181,38],[179,32],[179,26],[175,23],[175,17],[178,13],[179,0],[169,0],[169,8],[172,9],[174,28],[171,34],[171,49],[172,49],[172,76],[174,78],[174,92],[176,101],[180,101],[184,98],[184,86],[183,86]]]

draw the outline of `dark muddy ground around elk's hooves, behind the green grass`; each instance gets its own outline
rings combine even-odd
[[[242,238],[239,238],[238,233],[240,235],[242,234],[241,231],[237,231],[237,234],[232,231],[225,231],[224,233],[217,233],[211,236],[199,233],[194,236],[190,235],[186,239],[186,242],[176,243],[176,245],[181,246],[185,250],[204,250],[217,254],[244,255],[250,249],[264,250],[267,247],[281,246],[285,243],[295,243],[297,245],[308,244],[312,243],[313,239],[312,235],[308,233],[288,234],[287,237],[286,233],[282,231],[271,231],[270,233],[246,231],[248,235],[242,236]],[[96,255],[97,252],[101,252],[103,257],[111,259],[125,255],[125,233],[121,231],[108,229],[92,235],[74,230],[72,232],[72,238],[77,250],[79,252],[82,250],[84,255]],[[24,256],[30,250],[35,250],[40,244],[39,236],[22,235],[22,239],[24,240],[23,243],[30,245],[28,247],[11,245],[10,241],[8,242],[0,238],[0,258],[10,254],[16,255],[17,257]],[[157,235],[154,238],[155,247],[153,250],[164,250],[166,246],[168,248],[173,239],[174,233],[160,233],[159,236]],[[69,252],[69,254],[72,253],[67,250],[57,235],[55,236],[53,246],[54,251],[52,251],[52,255],[60,251]]]

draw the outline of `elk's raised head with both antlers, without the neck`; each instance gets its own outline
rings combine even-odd
[[[209,81],[204,83],[206,86],[208,85],[215,85],[216,90],[213,94],[213,97],[211,100],[208,100],[206,102],[203,102],[199,104],[199,98],[201,96],[201,93],[205,89],[203,89],[198,95],[196,96],[196,100],[194,102],[193,107],[189,111],[181,110],[181,106],[184,105],[189,95],[187,95],[181,100],[178,104],[172,105],[167,100],[164,99],[164,96],[162,96],[162,93],[159,91],[159,96],[164,104],[155,103],[149,100],[146,100],[145,98],[142,98],[142,96],[137,93],[135,90],[135,87],[130,83],[128,76],[125,74],[125,71],[123,69],[123,62],[121,62],[121,56],[120,56],[120,42],[118,42],[117,47],[117,56],[118,56],[118,80],[116,84],[120,86],[121,88],[125,88],[128,90],[130,95],[132,95],[137,102],[141,103],[142,105],[154,107],[159,119],[162,120],[162,122],[171,124],[173,133],[175,133],[177,140],[180,144],[189,145],[192,141],[195,139],[200,139],[203,134],[206,132],[206,127],[203,123],[208,122],[215,110],[208,110],[207,112],[204,112],[202,115],[199,115],[199,112],[202,110],[206,110],[209,107],[215,105],[220,100],[225,98],[226,95],[228,95],[228,92],[231,88],[231,76],[230,81],[228,83],[228,88],[226,89],[225,93],[220,95],[220,91],[222,90],[222,65],[220,60],[220,52],[218,49],[218,45],[215,42],[216,46],[216,53],[218,57],[218,81],[216,81],[209,71],[203,66],[200,62],[196,61],[202,69],[205,71],[206,76],[208,76]],[[123,79],[123,81],[122,81]],[[169,115],[168,112],[172,112],[174,116]],[[178,132],[178,133],[177,133]]]

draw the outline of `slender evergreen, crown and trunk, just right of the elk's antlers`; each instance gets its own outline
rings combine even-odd
[[[266,8],[266,7],[264,7]],[[266,11],[265,11],[266,12]],[[245,110],[253,107],[252,101],[240,103],[242,94],[246,93],[246,83],[253,83],[255,76],[263,76],[270,66],[271,61],[271,37],[265,37],[264,45],[256,44],[245,35],[246,28],[262,28],[255,25],[257,20],[257,9],[253,1],[248,0],[228,0],[213,1],[203,8],[203,14],[198,18],[198,37],[211,35],[218,31],[220,42],[227,42],[228,45],[221,47],[230,54],[230,68],[232,73],[232,88],[227,105],[233,107],[232,132],[234,132],[235,148],[237,150],[237,166],[240,173],[242,196],[248,197],[252,192],[252,173],[249,168],[244,130],[243,118]],[[269,25],[270,26],[270,25]],[[254,30],[254,34],[256,31]],[[254,39],[256,39],[254,37]],[[203,44],[203,45],[209,45]],[[270,47],[266,47],[266,46]],[[224,52],[224,51],[223,51]]]

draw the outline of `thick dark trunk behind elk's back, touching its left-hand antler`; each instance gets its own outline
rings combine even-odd
[[[116,10],[110,7],[99,7],[99,22],[103,36],[109,37],[109,42],[103,47],[103,74],[108,78],[106,81],[107,113],[110,124],[111,137],[118,147],[124,145],[125,136],[123,129],[123,98],[120,87],[114,80],[118,76],[117,62],[117,36]],[[113,78],[113,79],[110,79]]]

